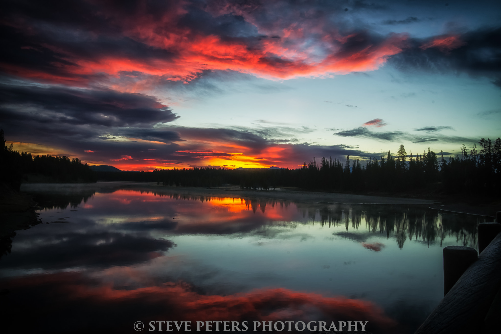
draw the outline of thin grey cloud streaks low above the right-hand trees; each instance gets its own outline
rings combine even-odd
[[[442,128],[452,129],[451,127],[426,127],[422,129],[417,129],[416,131],[427,131],[428,133],[433,133],[437,131],[441,131]],[[430,130],[426,130],[430,129]],[[403,131],[395,131],[395,132],[376,132],[370,131],[365,127],[358,127],[351,130],[339,131],[335,132],[334,135],[341,137],[363,137],[376,139],[381,141],[397,141],[397,140],[407,140],[413,143],[425,143],[425,142],[445,142],[445,143],[474,143],[476,139],[467,138],[467,137],[459,137],[459,136],[445,136],[440,134],[434,134],[429,137],[421,137],[417,135],[410,134],[408,132]]]

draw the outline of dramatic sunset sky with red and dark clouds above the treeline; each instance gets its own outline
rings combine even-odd
[[[14,149],[122,170],[455,156],[501,136],[498,1],[10,1]]]

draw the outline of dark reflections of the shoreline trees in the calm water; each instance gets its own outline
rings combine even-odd
[[[174,200],[189,200],[199,202],[220,202],[226,197],[186,195],[168,193],[165,191],[137,191],[118,190],[119,192],[138,192],[157,197],[168,197]],[[79,208],[86,203],[95,191],[83,193],[52,193],[37,194],[36,200],[43,210]],[[113,193],[113,191],[111,191]],[[257,210],[266,214],[266,208],[280,206],[288,209],[295,207],[305,218],[299,221],[303,224],[318,224],[339,227],[343,224],[346,230],[365,229],[372,233],[386,234],[387,238],[396,239],[400,248],[406,240],[419,240],[430,245],[439,242],[440,246],[446,236],[455,236],[457,244],[477,247],[476,225],[488,220],[487,217],[477,215],[457,214],[454,212],[430,209],[421,205],[396,204],[330,204],[330,203],[295,203],[267,198],[240,198],[241,204],[256,213]],[[349,234],[337,233],[338,236],[348,237]],[[353,237],[353,236],[352,236]],[[358,236],[358,238],[360,238]],[[365,240],[358,240],[365,241]]]

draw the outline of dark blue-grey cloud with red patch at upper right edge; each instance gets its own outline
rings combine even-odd
[[[411,39],[388,61],[402,71],[466,73],[501,82],[501,28],[485,28],[430,40]]]

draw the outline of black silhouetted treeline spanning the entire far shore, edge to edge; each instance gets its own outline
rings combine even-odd
[[[268,190],[297,187],[305,190],[332,192],[413,192],[438,191],[499,196],[501,183],[501,139],[480,139],[478,147],[466,148],[461,154],[445,158],[428,147],[422,154],[407,154],[400,145],[396,155],[366,161],[359,159],[313,158],[302,168],[227,169],[181,168],[154,171],[93,171],[77,158],[51,155],[32,156],[18,152],[13,146],[2,150],[3,182],[19,190],[25,182],[95,182],[142,181],[165,186],[220,187],[240,185],[242,189]]]

